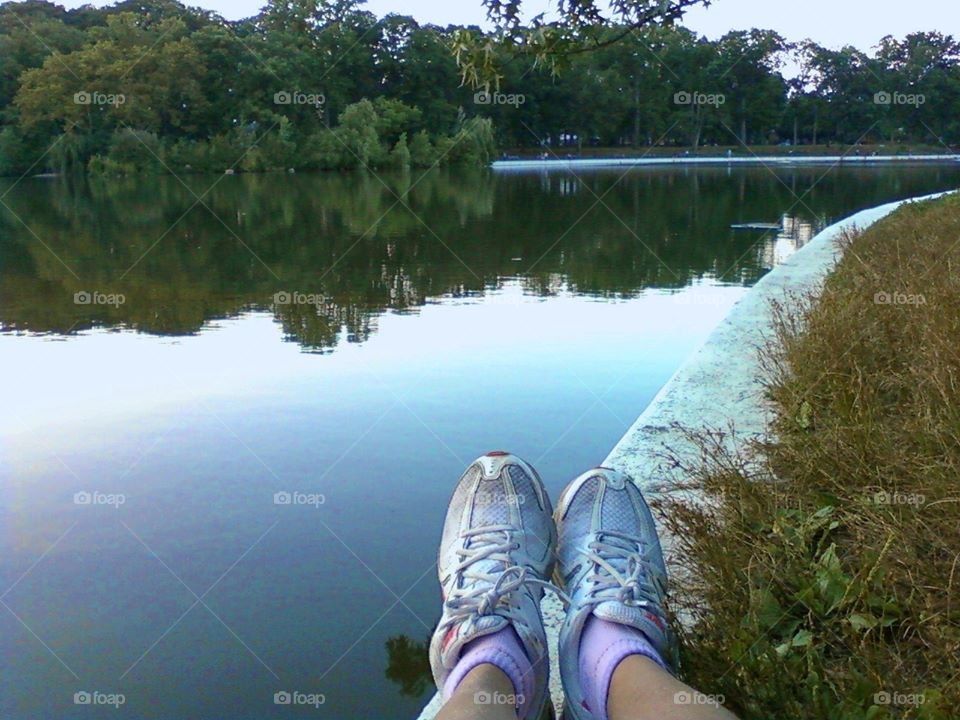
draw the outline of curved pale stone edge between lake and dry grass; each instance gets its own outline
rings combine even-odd
[[[626,472],[648,497],[669,479],[665,456],[699,453],[687,440],[687,429],[736,429],[734,440],[762,438],[771,410],[762,397],[757,350],[771,330],[770,303],[817,290],[839,259],[837,240],[848,230],[865,229],[905,203],[934,200],[958,190],[899,200],[861,210],[816,235],[786,262],[764,275],[687,358],[627,430],[603,465]],[[670,558],[669,539],[664,551]],[[557,667],[557,636],[563,607],[552,594],[541,605],[550,648],[550,692],[558,712],[563,702]],[[432,720],[441,698],[434,695],[419,716]]]

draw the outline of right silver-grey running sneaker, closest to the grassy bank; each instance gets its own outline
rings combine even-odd
[[[621,472],[596,468],[560,495],[556,582],[570,595],[560,628],[560,677],[575,720],[594,720],[580,687],[580,637],[591,615],[642,632],[676,667],[676,640],[664,609],[667,571],[650,508]]]

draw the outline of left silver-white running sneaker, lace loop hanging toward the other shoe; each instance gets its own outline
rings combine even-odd
[[[556,557],[552,507],[536,471],[502,451],[477,458],[460,478],[443,526],[438,568],[443,615],[430,642],[437,687],[471,640],[512,627],[534,667],[533,697],[518,715],[540,717],[549,700],[540,599]],[[552,586],[550,586],[552,587]],[[519,691],[518,691],[519,692]]]

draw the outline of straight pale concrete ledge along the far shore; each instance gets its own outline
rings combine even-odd
[[[494,170],[569,170],[642,165],[873,165],[878,163],[960,162],[960,155],[766,155],[763,157],[636,157],[494,160]]]

